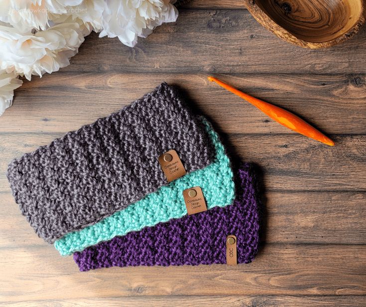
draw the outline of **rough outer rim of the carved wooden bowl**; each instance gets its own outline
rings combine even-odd
[[[352,0],[351,0],[352,1]],[[366,0],[361,0],[362,11],[360,14],[360,18],[358,22],[346,33],[342,34],[339,37],[333,38],[331,40],[325,42],[309,42],[303,40],[301,38],[296,37],[289,31],[287,31],[284,27],[280,26],[274,20],[272,20],[256,3],[255,0],[244,0],[246,8],[249,13],[267,30],[271,31],[277,37],[282,38],[283,40],[290,42],[294,45],[303,47],[303,48],[327,48],[344,42],[350,38],[352,38],[365,23],[366,19]]]

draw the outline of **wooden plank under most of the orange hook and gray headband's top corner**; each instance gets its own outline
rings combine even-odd
[[[327,134],[366,134],[366,75],[215,75],[302,116]],[[207,74],[150,73],[141,79],[136,73],[76,72],[25,81],[16,91],[16,108],[1,117],[1,132],[66,133],[118,111],[163,81],[179,85],[190,105],[227,133],[293,133],[241,98],[209,83]],[[60,117],[60,112],[68,114],[67,118]],[[22,117],[24,113],[26,117]],[[13,125],[13,119],[20,117],[22,120]]]

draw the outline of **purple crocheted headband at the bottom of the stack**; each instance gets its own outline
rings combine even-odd
[[[249,263],[259,241],[257,188],[249,164],[238,171],[237,179],[234,204],[115,237],[75,253],[75,262],[80,271],[112,266],[225,264],[226,237],[235,235],[238,263]]]

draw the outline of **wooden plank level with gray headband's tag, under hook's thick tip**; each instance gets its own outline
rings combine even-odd
[[[215,127],[216,121],[212,123]],[[365,135],[335,135],[333,148],[298,134],[226,134],[217,130],[234,160],[261,166],[266,190],[366,191]],[[6,172],[12,157],[32,152],[62,135],[0,134],[1,172]],[[7,179],[0,176],[0,191],[7,190]]]

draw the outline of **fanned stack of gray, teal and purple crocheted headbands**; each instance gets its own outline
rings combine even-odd
[[[186,173],[168,182],[159,156],[171,150]],[[14,159],[7,177],[38,236],[61,255],[75,253],[81,271],[226,263],[228,235],[236,236],[238,263],[257,251],[252,168],[245,164],[235,179],[210,123],[166,83]],[[197,186],[207,211],[187,215],[183,191]]]

